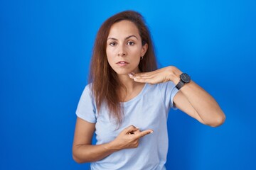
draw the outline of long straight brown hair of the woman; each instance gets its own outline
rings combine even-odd
[[[148,44],[148,49],[143,60],[139,63],[141,72],[151,72],[156,70],[156,57],[154,53],[154,45],[151,40],[149,29],[146,27],[144,18],[136,11],[123,11],[108,18],[100,27],[95,40],[92,51],[92,60],[90,65],[89,82],[92,83],[92,93],[95,96],[97,110],[100,111],[102,103],[107,104],[110,111],[110,117],[117,120],[120,125],[122,123],[123,109],[122,98],[119,96],[119,87],[123,84],[119,81],[117,73],[114,72],[110,64],[107,62],[107,37],[110,28],[114,23],[119,21],[132,21],[142,38],[142,45]]]

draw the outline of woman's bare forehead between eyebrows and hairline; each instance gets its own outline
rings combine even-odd
[[[112,25],[108,37],[125,38],[129,35],[136,35],[138,38],[140,38],[137,26],[131,21],[124,20]]]

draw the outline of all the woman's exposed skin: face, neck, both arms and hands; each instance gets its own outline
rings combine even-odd
[[[176,67],[164,67],[154,72],[142,73],[139,70],[140,57],[146,53],[148,45],[142,46],[139,30],[130,21],[114,23],[107,39],[107,60],[117,72],[126,89],[120,89],[123,101],[129,101],[142,91],[145,83],[159,84],[173,81],[178,84],[182,73]],[[117,64],[124,61],[127,64]],[[216,127],[225,121],[225,115],[210,94],[191,81],[185,84],[174,97],[174,104],[184,113],[196,118],[199,122]],[[95,162],[121,149],[136,148],[139,139],[149,135],[153,130],[140,131],[133,125],[122,130],[109,143],[92,145],[95,123],[88,123],[77,118],[73,142],[73,159],[78,163]]]

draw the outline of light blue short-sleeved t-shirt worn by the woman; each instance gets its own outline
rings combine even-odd
[[[124,120],[117,129],[116,122],[109,117],[105,105],[102,106],[100,113],[97,111],[90,85],[87,85],[82,92],[76,114],[87,122],[95,123],[96,145],[114,140],[119,132],[129,125],[134,125],[141,131],[154,130],[153,133],[139,140],[139,147],[122,149],[100,161],[91,162],[91,169],[166,169],[164,166],[168,151],[166,121],[177,92],[172,81],[154,85],[145,84],[135,98],[123,103]]]

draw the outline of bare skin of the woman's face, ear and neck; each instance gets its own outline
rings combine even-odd
[[[110,34],[107,38],[107,60],[126,87],[126,89],[121,89],[123,101],[129,101],[134,98],[144,87],[144,83],[131,81],[127,75],[131,72],[140,72],[140,57],[145,55],[147,48],[147,44],[142,46],[142,38],[134,23],[120,21],[110,29]],[[129,64],[121,67],[117,64],[119,61],[125,61]]]

